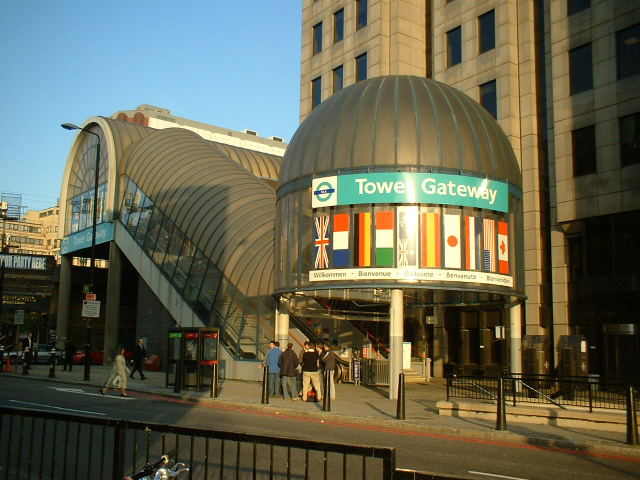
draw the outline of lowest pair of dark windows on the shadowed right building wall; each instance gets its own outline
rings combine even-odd
[[[620,166],[640,163],[640,113],[618,119],[620,139]],[[596,161],[596,127],[589,125],[571,132],[573,152],[573,176],[588,175],[598,171]]]

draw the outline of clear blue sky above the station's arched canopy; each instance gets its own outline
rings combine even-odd
[[[0,0],[0,193],[55,205],[60,124],[142,103],[289,141],[300,28],[297,0]]]

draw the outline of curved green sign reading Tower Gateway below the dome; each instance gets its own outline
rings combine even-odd
[[[362,173],[315,178],[312,207],[443,204],[507,212],[509,188],[487,178],[440,173]]]

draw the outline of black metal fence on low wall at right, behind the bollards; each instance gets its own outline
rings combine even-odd
[[[553,377],[549,375],[511,375],[504,377],[506,402],[547,403],[564,408],[565,405],[625,410],[629,387],[638,384],[623,381],[602,382],[592,377]],[[498,378],[453,375],[447,377],[447,400],[474,398],[497,400]],[[636,409],[639,402],[636,396]]]

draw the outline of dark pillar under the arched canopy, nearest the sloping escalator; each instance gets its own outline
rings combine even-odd
[[[104,317],[104,364],[111,365],[118,346],[120,324],[120,289],[122,288],[122,257],[116,242],[109,243],[109,272]]]

